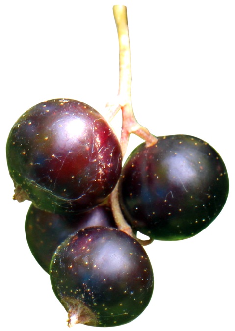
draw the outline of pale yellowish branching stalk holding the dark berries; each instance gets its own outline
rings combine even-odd
[[[104,117],[111,122],[113,118],[121,110],[122,112],[122,127],[120,144],[122,149],[123,159],[127,153],[128,142],[131,134],[135,134],[146,141],[147,146],[152,146],[157,143],[157,137],[149,131],[147,127],[142,126],[134,114],[132,105],[132,70],[131,70],[131,39],[128,23],[128,11],[125,4],[115,4],[112,7],[114,23],[116,26],[118,47],[119,47],[119,78],[118,78],[118,93],[117,95],[105,104],[109,107]],[[110,203],[115,222],[118,229],[133,235],[131,227],[124,219],[119,201],[118,201],[118,184],[110,195]],[[152,241],[141,240],[141,243],[149,244]]]

